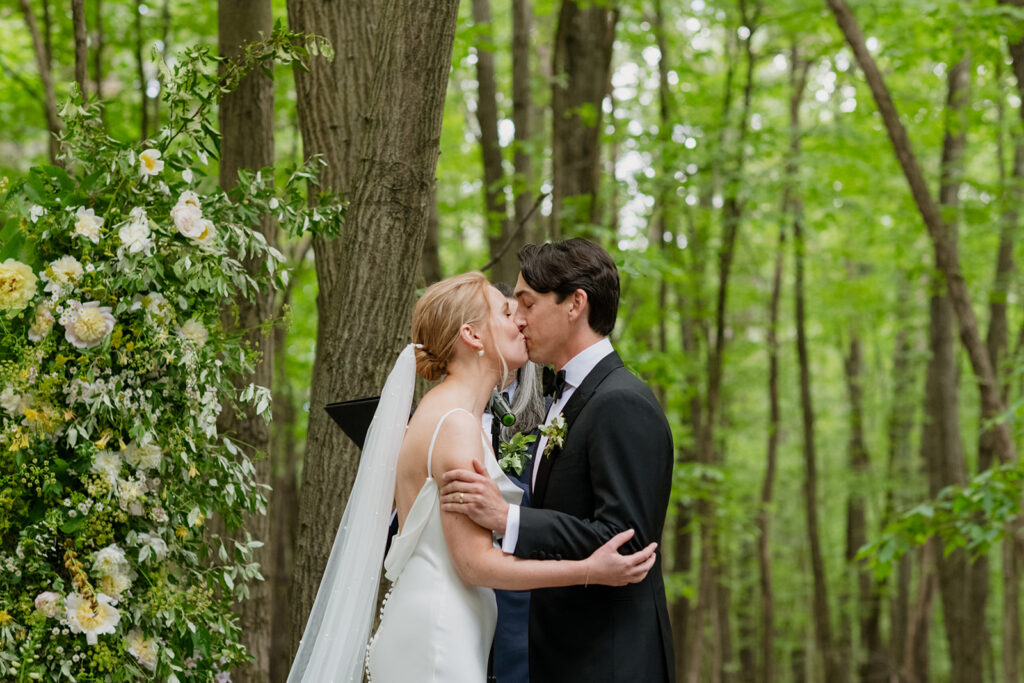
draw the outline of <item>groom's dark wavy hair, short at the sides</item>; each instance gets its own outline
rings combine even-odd
[[[522,279],[534,290],[554,292],[558,302],[577,290],[587,293],[587,322],[599,335],[609,335],[618,313],[618,269],[608,252],[589,240],[526,245],[519,250]]]

